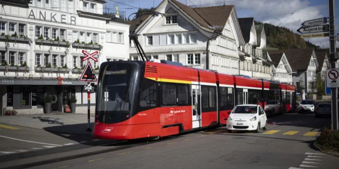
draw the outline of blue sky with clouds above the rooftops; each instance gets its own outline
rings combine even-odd
[[[157,7],[161,0],[105,0],[104,7],[119,12],[124,11],[126,16],[138,11],[138,8]],[[256,21],[283,26],[297,33],[301,24],[306,20],[328,17],[327,0],[178,0],[187,6],[221,6],[234,5],[238,18],[253,17]],[[339,0],[335,6],[335,33],[339,33]],[[133,17],[133,16],[132,16]],[[131,19],[132,19],[131,17]],[[329,47],[328,37],[307,38],[307,41],[320,46]],[[339,41],[336,42],[339,47]]]

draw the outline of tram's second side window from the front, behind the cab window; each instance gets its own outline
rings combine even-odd
[[[175,105],[177,103],[177,88],[175,84],[164,83],[161,85],[162,105]]]

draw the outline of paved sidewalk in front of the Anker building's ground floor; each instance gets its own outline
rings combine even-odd
[[[94,114],[90,115],[90,128],[94,126]],[[33,129],[42,129],[50,132],[69,134],[92,134],[88,128],[87,114],[40,114],[0,116],[0,124],[7,124]]]

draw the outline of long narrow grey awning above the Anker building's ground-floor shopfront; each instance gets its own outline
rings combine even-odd
[[[0,85],[45,85],[56,86],[58,85],[58,79],[29,79],[29,78],[0,78]],[[79,80],[64,79],[61,81],[61,86],[83,86],[87,85],[87,82]]]

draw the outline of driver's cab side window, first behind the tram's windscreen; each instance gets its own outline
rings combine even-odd
[[[157,106],[157,82],[143,78],[140,90],[140,110]]]

